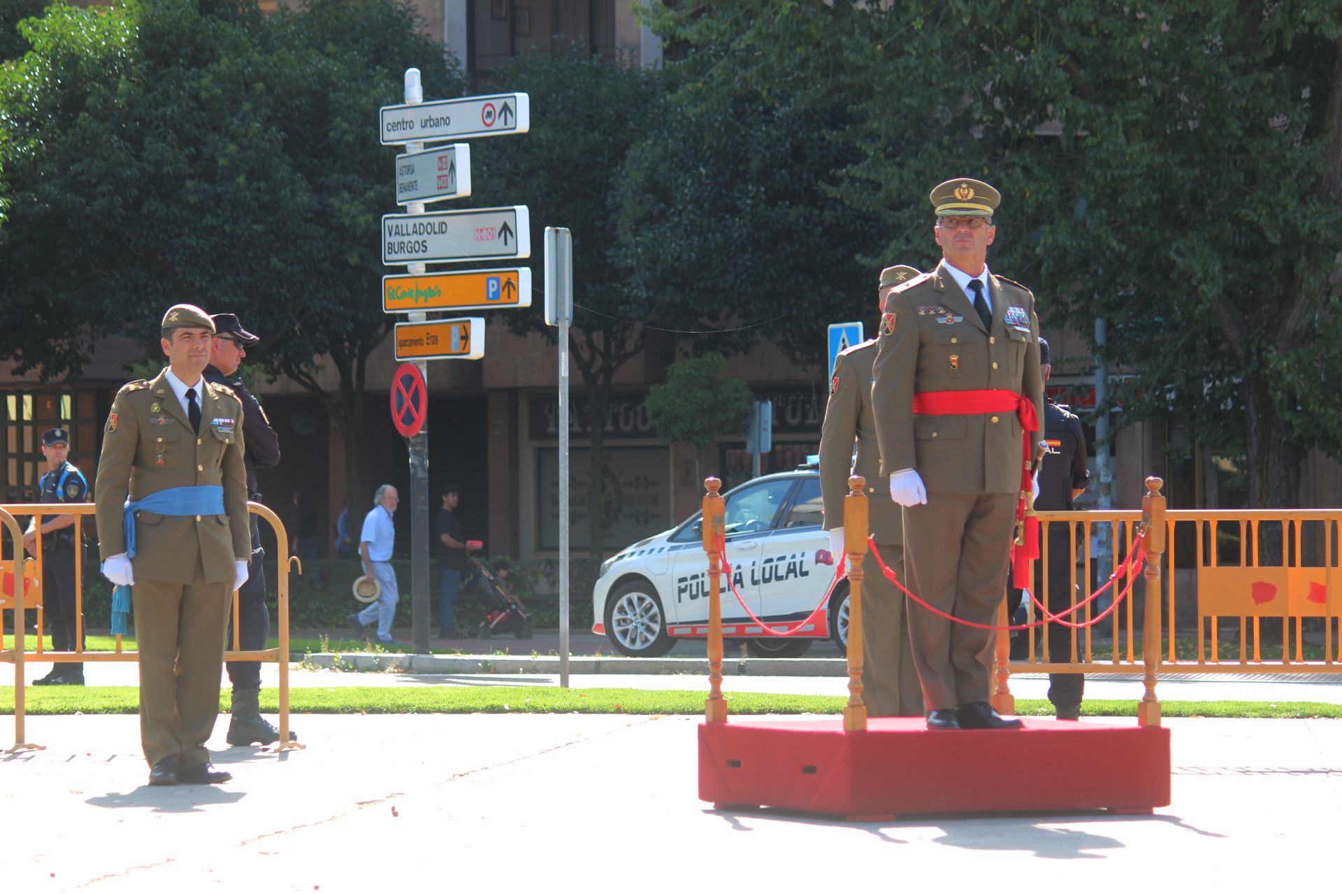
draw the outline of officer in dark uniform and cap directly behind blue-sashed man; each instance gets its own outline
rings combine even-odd
[[[227,385],[243,402],[243,444],[247,450],[243,456],[247,466],[247,497],[260,503],[260,493],[256,491],[256,469],[268,468],[279,462],[279,436],[270,428],[266,411],[260,409],[255,395],[243,385],[238,375],[238,367],[247,357],[247,348],[255,346],[260,338],[243,328],[235,314],[211,314],[215,320],[215,340],[209,350],[209,366],[205,367],[205,381],[216,385]],[[242,649],[254,650],[266,647],[266,637],[270,635],[270,611],[266,609],[266,571],[260,559],[266,552],[260,546],[260,531],[256,527],[256,516],[251,516],[252,562],[251,574],[247,582],[238,591],[238,641]],[[229,626],[232,621],[229,621]],[[229,645],[232,631],[229,630]],[[228,724],[229,745],[250,745],[260,743],[268,745],[279,739],[279,730],[260,716],[260,662],[229,661],[228,680],[234,685],[232,718]],[[290,733],[290,737],[294,737]]]

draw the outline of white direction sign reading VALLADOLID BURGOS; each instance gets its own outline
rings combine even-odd
[[[531,256],[526,205],[382,214],[382,263],[475,261]]]

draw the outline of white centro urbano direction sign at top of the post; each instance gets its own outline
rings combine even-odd
[[[382,106],[377,134],[384,146],[467,137],[525,134],[531,129],[531,103],[525,92],[440,99]]]

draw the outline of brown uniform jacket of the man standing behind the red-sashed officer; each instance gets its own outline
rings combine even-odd
[[[876,339],[841,351],[829,381],[829,403],[820,428],[820,495],[825,529],[843,527],[843,499],[848,476],[867,478],[868,531],[876,543],[900,544],[903,516],[890,499],[890,478],[880,473],[876,420],[871,411],[871,370]],[[854,456],[854,440],[858,452]]]

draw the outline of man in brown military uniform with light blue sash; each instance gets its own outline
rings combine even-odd
[[[223,783],[232,776],[211,765],[205,740],[251,559],[243,405],[201,375],[215,336],[203,310],[174,304],[161,328],[168,367],[122,386],[107,416],[98,548],[103,575],[134,604],[149,784]]]

